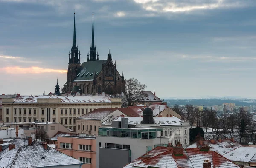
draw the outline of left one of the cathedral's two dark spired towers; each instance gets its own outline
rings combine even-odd
[[[74,34],[73,34],[73,46],[71,47],[71,53],[69,53],[69,63],[67,69],[67,91],[70,92],[73,88],[73,80],[79,73],[81,68],[80,64],[80,51],[76,44],[76,13],[74,13]]]

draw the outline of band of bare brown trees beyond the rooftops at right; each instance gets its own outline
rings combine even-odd
[[[256,122],[253,122],[252,115],[244,108],[239,108],[234,112],[224,111],[219,115],[214,110],[205,109],[200,111],[191,104],[185,106],[175,104],[172,106],[172,110],[179,114],[182,120],[189,122],[191,128],[193,126],[204,127],[206,132],[207,128],[212,128],[217,139],[228,134],[233,137],[235,131],[239,134],[240,142],[246,134],[249,135],[250,142],[256,139]]]

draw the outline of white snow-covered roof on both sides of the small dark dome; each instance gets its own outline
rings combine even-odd
[[[123,117],[112,117],[115,121],[121,121]],[[128,118],[128,124],[134,124],[136,126],[140,125],[142,122],[143,117],[124,117]],[[184,125],[187,124],[186,122],[180,120],[177,117],[154,117],[154,122],[157,126],[168,126],[168,125]],[[105,122],[102,122],[104,125]]]

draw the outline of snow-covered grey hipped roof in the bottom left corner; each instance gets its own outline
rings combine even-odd
[[[20,141],[20,145],[15,142],[15,148],[10,150],[7,148],[0,153],[0,167],[5,168],[41,168],[53,167],[61,165],[82,165],[83,162],[63,154],[54,148],[47,146],[38,141],[27,143],[24,145]],[[27,140],[26,140],[27,142]]]

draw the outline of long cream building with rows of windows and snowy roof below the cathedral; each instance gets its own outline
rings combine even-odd
[[[119,108],[120,98],[109,96],[21,96],[3,99],[3,120],[57,122],[76,130],[76,118],[97,108]]]

